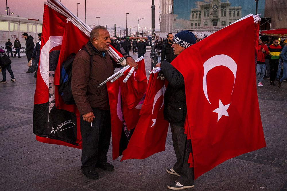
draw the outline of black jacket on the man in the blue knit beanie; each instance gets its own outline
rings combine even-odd
[[[160,67],[168,81],[164,93],[164,119],[183,127],[187,113],[183,75],[167,61],[163,61]]]

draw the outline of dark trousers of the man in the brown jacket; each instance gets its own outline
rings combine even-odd
[[[82,136],[82,166],[84,172],[95,170],[95,165],[104,165],[107,162],[107,153],[110,147],[111,123],[110,111],[92,108],[94,122],[84,121],[80,116]]]

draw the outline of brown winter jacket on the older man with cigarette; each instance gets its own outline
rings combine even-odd
[[[97,86],[114,74],[114,68],[121,67],[107,52],[103,56],[90,41],[86,48],[89,53],[80,50],[72,65],[71,88],[80,115],[93,111],[92,108],[110,109],[107,86]],[[93,56],[91,68],[89,54]]]

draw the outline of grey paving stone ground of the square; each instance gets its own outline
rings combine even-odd
[[[150,52],[145,55],[147,76]],[[132,53],[131,53],[132,54]],[[131,55],[137,58],[137,55]],[[36,141],[32,129],[36,79],[28,73],[26,56],[13,58],[15,82],[0,84],[0,190],[168,190],[177,176],[166,173],[176,158],[168,131],[165,151],[147,159],[108,162],[114,171],[97,169],[98,180],[86,178],[81,170],[81,150]],[[1,79],[1,76],[0,76]],[[256,85],[256,84],[254,84]],[[279,89],[263,79],[257,86],[267,147],[234,157],[195,180],[202,191],[287,191],[287,83]]]

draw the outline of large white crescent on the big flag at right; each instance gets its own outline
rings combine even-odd
[[[209,103],[210,103],[210,101],[208,99],[208,94],[207,94],[206,75],[209,72],[209,70],[211,70],[212,68],[214,68],[216,66],[226,66],[227,68],[229,68],[234,75],[234,83],[235,83],[235,78],[236,78],[237,64],[229,56],[227,56],[225,54],[219,54],[216,56],[212,56],[210,59],[206,60],[203,64],[204,76],[203,76],[202,85],[203,85],[203,92],[204,92],[205,97]],[[234,88],[234,83],[233,83],[233,88]],[[232,92],[233,92],[233,88],[232,88]],[[232,92],[231,92],[231,94],[232,94]]]

